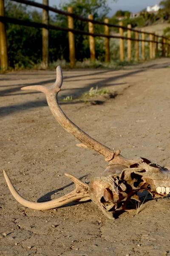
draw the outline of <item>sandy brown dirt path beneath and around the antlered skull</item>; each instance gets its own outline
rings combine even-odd
[[[124,70],[64,70],[60,97],[77,97],[92,86],[117,91],[100,104],[61,102],[67,116],[101,143],[125,157],[147,157],[170,165],[170,59]],[[0,256],[170,255],[170,199],[146,201],[115,220],[93,202],[37,211],[11,196],[2,170],[31,201],[48,201],[74,186],[64,173],[88,182],[107,163],[54,119],[42,93],[21,91],[50,85],[55,70],[0,75]]]

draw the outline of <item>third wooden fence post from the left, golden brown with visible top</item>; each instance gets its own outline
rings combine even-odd
[[[68,7],[67,11],[73,13],[73,8]],[[74,19],[71,16],[68,16],[68,28],[74,29]],[[68,44],[69,44],[69,59],[70,59],[70,66],[74,67],[76,64],[75,61],[75,41],[74,41],[74,33],[69,31],[68,32]]]

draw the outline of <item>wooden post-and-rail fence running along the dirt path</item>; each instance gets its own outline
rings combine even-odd
[[[8,70],[8,50],[7,50],[7,38],[6,38],[6,23],[13,23],[23,26],[31,26],[36,28],[42,28],[42,64],[44,67],[48,67],[48,32],[49,29],[55,29],[60,31],[68,32],[68,42],[69,42],[69,58],[71,67],[75,66],[75,42],[74,34],[82,34],[89,36],[89,47],[91,61],[95,61],[95,37],[105,38],[105,61],[110,61],[110,38],[119,39],[119,51],[120,51],[120,61],[124,61],[124,41],[127,40],[127,59],[131,60],[131,41],[135,41],[135,55],[136,61],[139,61],[139,42],[141,42],[141,56],[142,60],[145,60],[145,45],[146,42],[149,43],[150,47],[150,59],[155,58],[158,55],[159,44],[161,44],[161,55],[167,56],[170,54],[170,38],[160,36],[153,32],[145,32],[144,29],[132,29],[131,25],[127,27],[123,26],[123,22],[120,21],[119,25],[110,24],[108,18],[104,22],[97,21],[93,19],[93,15],[89,14],[88,18],[77,16],[73,13],[72,7],[68,7],[68,12],[55,9],[48,6],[48,0],[42,0],[43,4],[35,3],[30,0],[13,0],[18,3],[24,3],[26,5],[39,7],[42,9],[42,23],[36,23],[26,20],[19,20],[16,18],[5,17],[4,0],[0,0],[0,68],[1,70]],[[68,27],[59,27],[49,24],[49,11],[55,12],[61,15],[68,16]],[[81,31],[74,29],[74,19],[82,20],[88,22],[88,31]],[[105,27],[105,34],[96,34],[94,32],[94,24],[99,24]],[[119,28],[119,36],[111,35],[109,33],[109,28]],[[127,37],[124,36],[124,30],[127,31]],[[132,37],[132,32],[135,33],[135,38]],[[140,35],[140,36],[139,36]],[[149,36],[149,40],[146,40],[146,35]],[[161,40],[159,40],[161,38]]]

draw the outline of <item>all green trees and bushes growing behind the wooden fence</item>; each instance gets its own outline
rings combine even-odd
[[[68,3],[62,3],[57,8],[67,10],[68,6],[72,6],[74,12],[82,17],[88,17],[88,14],[94,15],[96,20],[104,20],[108,17],[109,7],[107,0],[69,0]],[[132,27],[147,26],[158,22],[170,22],[170,0],[161,2],[162,9],[157,15],[150,15],[144,10],[141,16],[130,19],[130,12],[119,10],[109,22],[118,24],[118,17],[125,16],[123,25],[131,24]],[[22,20],[42,22],[42,13],[40,9],[34,9],[30,6],[14,3],[11,0],[5,0],[5,9],[7,17],[15,17]],[[64,15],[51,15],[50,23],[57,26],[67,27],[67,17]],[[88,32],[88,23],[77,20],[74,22],[74,28]],[[8,60],[11,69],[25,68],[43,68],[42,60],[42,32],[39,28],[19,26],[15,24],[6,24],[8,38]],[[96,33],[103,33],[104,26],[95,25]],[[111,33],[117,32],[117,29],[112,29]],[[170,34],[169,28],[165,29],[165,35]],[[132,35],[134,36],[134,35]],[[95,38],[96,46],[96,61],[91,63],[89,38],[86,35],[75,35],[76,60],[77,68],[116,68],[122,65],[134,64],[134,52],[132,52],[132,61],[128,63],[119,61],[119,40],[111,40],[111,63],[105,64],[105,39]],[[125,42],[125,52],[127,50]],[[134,44],[134,42],[132,42]],[[132,47],[134,49],[134,47]],[[149,54],[149,47],[146,50]],[[146,56],[149,56],[146,52]],[[62,68],[70,67],[69,65],[69,49],[68,49],[68,33],[56,30],[49,30],[49,61],[50,67],[56,66],[57,63],[62,65]]]

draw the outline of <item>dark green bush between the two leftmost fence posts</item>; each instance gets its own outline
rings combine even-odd
[[[6,1],[6,16],[37,21],[39,13],[27,12],[26,6]],[[37,20],[34,20],[36,17]],[[41,30],[32,27],[6,24],[8,60],[10,67],[28,67],[41,58]],[[36,44],[35,44],[36,42]]]

